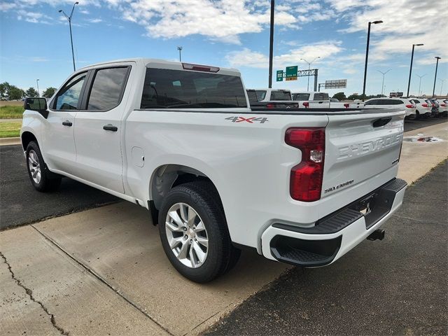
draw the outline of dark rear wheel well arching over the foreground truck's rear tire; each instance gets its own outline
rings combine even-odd
[[[219,196],[218,190],[209,176],[197,169],[183,165],[164,165],[156,169],[151,179],[150,191],[152,200],[148,202],[152,210],[151,216],[153,216],[154,225],[158,222],[158,214],[155,214],[154,210],[158,212],[158,209],[162,207],[163,198],[169,193],[169,190],[183,183],[204,180],[209,181],[214,186]],[[221,197],[219,202],[222,204]]]

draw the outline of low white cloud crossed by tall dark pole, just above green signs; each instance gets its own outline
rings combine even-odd
[[[297,64],[297,62],[302,62],[302,64],[304,64],[304,61],[300,61],[300,59],[307,59],[309,62],[312,62],[313,59],[320,57],[319,59],[316,59],[316,62],[325,62],[328,57],[342,52],[343,48],[341,47],[341,44],[341,41],[319,41],[302,45],[300,48],[289,50],[289,52],[281,55],[274,55],[274,68],[284,68],[285,66]],[[269,62],[267,55],[249,50],[248,48],[229,52],[225,58],[230,66],[237,68],[245,66],[267,69]]]

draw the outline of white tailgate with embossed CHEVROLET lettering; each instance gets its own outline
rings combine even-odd
[[[367,179],[376,186],[388,182],[381,173],[398,165],[404,118],[404,110],[328,114],[321,197]]]

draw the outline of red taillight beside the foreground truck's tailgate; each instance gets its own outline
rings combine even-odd
[[[325,128],[290,128],[285,142],[300,149],[302,160],[291,169],[289,193],[294,200],[320,200],[325,155]]]

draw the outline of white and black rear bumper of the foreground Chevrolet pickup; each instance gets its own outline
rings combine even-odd
[[[393,179],[312,228],[274,223],[263,232],[262,254],[303,267],[329,265],[377,230],[401,206],[407,183]],[[366,209],[364,215],[360,210]]]

